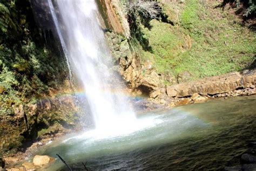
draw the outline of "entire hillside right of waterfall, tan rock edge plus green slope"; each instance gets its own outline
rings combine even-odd
[[[99,6],[114,62],[134,91],[150,95],[168,85],[253,68],[255,33],[239,26],[242,20],[231,11],[215,8],[220,2],[159,1],[154,19],[139,11],[129,16],[130,2],[105,0]]]

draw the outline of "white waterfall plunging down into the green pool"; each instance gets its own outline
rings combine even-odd
[[[111,132],[131,127],[136,120],[131,105],[111,92],[119,87],[119,81],[110,71],[111,54],[99,25],[95,0],[48,3],[70,70],[82,84],[96,129]]]

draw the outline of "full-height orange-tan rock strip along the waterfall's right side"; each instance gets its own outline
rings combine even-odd
[[[131,44],[125,5],[116,0],[102,0],[98,5],[102,9],[103,17],[105,16],[106,25],[110,28],[106,36],[114,63],[118,65],[118,71],[129,87],[146,95],[159,88],[161,81],[158,74],[150,63],[142,63],[139,51],[134,49],[136,45]]]

